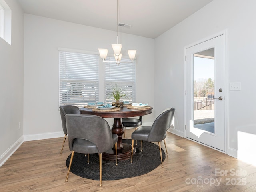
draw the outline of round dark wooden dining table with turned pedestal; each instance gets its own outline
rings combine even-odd
[[[136,116],[144,116],[152,113],[152,107],[146,108],[134,108],[129,109],[126,106],[123,106],[118,111],[106,111],[106,110],[97,110],[94,111],[94,108],[79,108],[81,114],[89,114],[89,115],[97,115],[102,118],[114,118],[114,123],[111,129],[113,134],[118,135],[117,141],[117,158],[118,160],[126,160],[132,156],[132,145],[128,143],[122,143],[122,136],[124,134],[124,127],[122,124],[122,118],[127,117],[136,117]],[[136,152],[134,148],[134,153]],[[102,158],[106,160],[115,160],[116,154],[114,147],[107,152],[102,153]]]

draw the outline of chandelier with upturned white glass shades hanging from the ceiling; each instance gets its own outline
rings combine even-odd
[[[108,49],[98,49],[100,53],[100,58],[102,59],[103,62],[112,62],[116,64],[120,63],[132,63],[137,50],[128,50],[128,55],[131,61],[121,61],[122,58],[122,53],[121,53],[121,48],[122,44],[118,44],[118,26],[119,26],[119,21],[118,21],[118,0],[117,0],[117,44],[112,44],[112,48],[114,51],[114,57],[116,61],[106,61],[106,57],[108,55]]]

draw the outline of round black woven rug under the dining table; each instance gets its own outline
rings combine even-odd
[[[132,144],[131,139],[123,139],[122,142]],[[134,142],[135,143],[135,142]],[[102,180],[118,180],[130,178],[146,174],[159,165],[161,165],[159,146],[143,141],[140,152],[140,141],[136,148],[136,153],[131,160],[120,160],[118,166],[115,161],[102,160]],[[66,160],[66,166],[69,166],[71,154]],[[162,149],[162,158],[165,159],[165,153]],[[87,163],[87,156],[80,153],[75,153],[70,168],[70,172],[83,178],[92,180],[100,180],[99,156],[98,154],[89,155],[90,163]]]

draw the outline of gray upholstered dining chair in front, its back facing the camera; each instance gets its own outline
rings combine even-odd
[[[96,115],[66,114],[68,131],[68,146],[72,151],[68,166],[70,172],[74,153],[98,153],[100,161],[100,186],[102,186],[102,153],[110,150],[115,145],[117,166],[117,140],[118,135],[112,134],[108,122]]]

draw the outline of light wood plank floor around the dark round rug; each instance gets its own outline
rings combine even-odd
[[[126,138],[130,138],[132,131],[133,129],[126,130]],[[99,186],[99,181],[81,178],[71,172],[68,182],[65,182],[68,170],[66,158],[70,151],[66,141],[63,154],[60,154],[62,139],[24,142],[0,167],[0,191],[256,191],[256,167],[170,133],[166,138],[169,155],[164,160],[164,168],[159,166],[148,174],[134,178],[102,181],[102,187]],[[163,142],[162,148],[164,148]],[[226,175],[222,174],[225,171]],[[236,172],[235,176],[233,176],[234,172]]]

